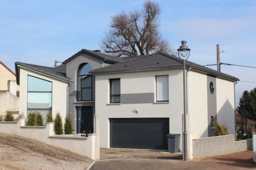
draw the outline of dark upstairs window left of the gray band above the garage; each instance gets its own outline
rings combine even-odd
[[[120,103],[120,79],[110,79],[110,102]]]

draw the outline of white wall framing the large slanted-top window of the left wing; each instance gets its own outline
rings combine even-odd
[[[67,82],[35,73],[25,68],[20,68],[20,113],[27,116],[28,75],[52,82],[52,116],[55,118],[56,113],[59,112],[64,124],[64,119],[67,114]]]

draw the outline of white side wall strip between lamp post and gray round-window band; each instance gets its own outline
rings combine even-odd
[[[188,86],[190,133],[196,133],[196,138],[208,137],[207,75],[189,71]]]

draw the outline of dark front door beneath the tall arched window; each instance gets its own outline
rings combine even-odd
[[[78,107],[78,133],[93,133],[93,107]]]

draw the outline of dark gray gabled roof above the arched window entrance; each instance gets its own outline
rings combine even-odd
[[[99,59],[104,60],[105,62],[118,63],[118,62],[124,62],[125,61],[125,59],[123,59],[122,57],[116,57],[116,56],[111,56],[111,55],[104,54],[104,53],[99,53],[99,52],[96,52],[96,51],[82,49],[81,51],[79,51],[76,54],[74,54],[73,56],[69,57],[68,59],[66,59],[62,63],[63,64],[67,64],[67,62],[69,62],[70,60],[72,60],[75,57],[79,56],[81,53],[90,54],[90,55],[92,55],[94,57],[98,57]]]

